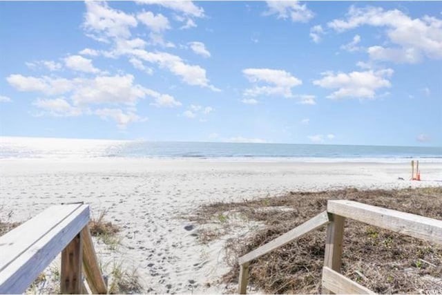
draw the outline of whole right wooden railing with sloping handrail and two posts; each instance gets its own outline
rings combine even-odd
[[[251,260],[282,247],[296,238],[318,229],[318,227],[327,225],[322,278],[323,294],[374,294],[366,287],[340,274],[345,218],[365,222],[369,225],[396,231],[428,242],[442,244],[442,220],[375,207],[360,202],[329,200],[327,211],[238,259],[240,264],[238,293],[246,294]]]

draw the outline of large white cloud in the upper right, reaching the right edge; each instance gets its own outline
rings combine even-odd
[[[352,6],[347,19],[335,19],[328,26],[338,32],[358,26],[386,28],[385,33],[394,47],[371,46],[367,49],[374,60],[387,60],[396,63],[415,64],[423,56],[442,59],[442,20],[424,16],[412,19],[400,10]]]

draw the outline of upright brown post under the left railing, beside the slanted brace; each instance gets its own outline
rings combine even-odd
[[[81,234],[77,234],[61,252],[61,294],[81,294],[82,256]]]

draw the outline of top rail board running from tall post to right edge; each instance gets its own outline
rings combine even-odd
[[[327,211],[375,227],[442,244],[442,220],[348,200],[329,200]]]

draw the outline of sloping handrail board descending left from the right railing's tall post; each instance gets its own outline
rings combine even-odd
[[[302,223],[298,227],[291,229],[291,231],[287,231],[287,233],[279,236],[278,238],[267,242],[267,244],[262,245],[261,247],[254,249],[253,251],[245,254],[244,256],[238,258],[238,263],[240,265],[244,263],[248,263],[249,261],[256,259],[264,254],[269,253],[270,251],[277,249],[291,242],[292,240],[303,236],[318,227],[322,227],[329,222],[329,217],[327,211],[320,213],[318,216],[311,218],[307,222]]]

